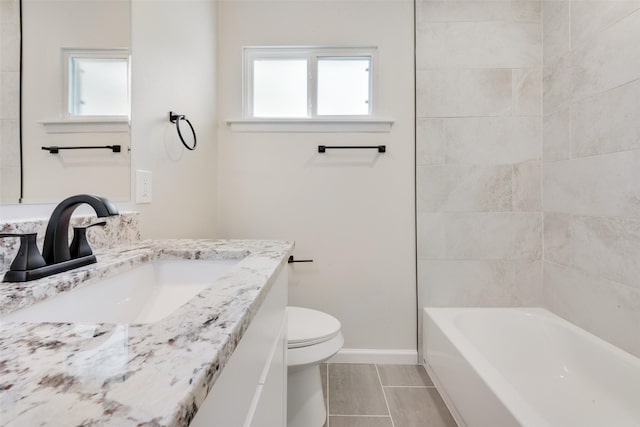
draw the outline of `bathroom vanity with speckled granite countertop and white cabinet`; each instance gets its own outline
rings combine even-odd
[[[276,241],[137,241],[96,250],[97,264],[1,284],[2,425],[285,426],[292,248]],[[158,317],[120,321],[106,310],[96,319],[110,322],[102,322],[91,317],[98,308],[83,314],[83,306],[108,299],[92,285],[185,259],[237,262]],[[28,317],[28,307],[73,292],[84,296],[54,307],[50,318]],[[20,313],[27,317],[8,321]],[[62,315],[71,317],[56,317]]]

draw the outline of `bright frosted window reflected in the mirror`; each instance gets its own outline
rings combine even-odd
[[[64,116],[129,116],[127,49],[64,49]]]

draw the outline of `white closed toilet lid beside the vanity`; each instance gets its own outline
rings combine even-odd
[[[287,307],[289,348],[318,344],[338,335],[340,321],[317,310],[302,307]]]

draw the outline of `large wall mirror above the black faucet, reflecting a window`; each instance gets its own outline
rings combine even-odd
[[[128,201],[129,0],[1,3],[3,35],[5,26],[15,27],[16,36],[7,41],[18,46],[17,55],[15,47],[9,48],[9,57],[17,56],[17,67],[3,62],[2,72],[11,68],[22,75],[22,85],[16,87],[18,104],[6,109],[3,102],[1,110],[1,202],[52,203],[79,193]],[[17,25],[9,22],[16,17]],[[9,44],[3,41],[3,49]],[[8,57],[2,54],[3,60]],[[3,100],[4,91],[3,86]]]

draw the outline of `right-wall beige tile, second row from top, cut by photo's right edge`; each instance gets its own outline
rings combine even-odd
[[[640,10],[573,51],[574,101],[640,78]]]

